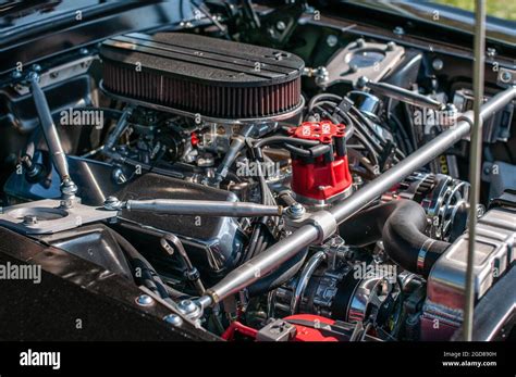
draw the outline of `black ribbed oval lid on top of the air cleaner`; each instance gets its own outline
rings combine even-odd
[[[259,87],[292,81],[304,61],[285,51],[185,33],[132,33],[106,40],[105,60],[202,84]]]

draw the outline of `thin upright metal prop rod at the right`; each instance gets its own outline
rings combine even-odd
[[[469,146],[469,218],[468,257],[466,267],[466,292],[464,300],[464,340],[472,339],[475,274],[474,257],[477,238],[477,205],[480,199],[480,176],[482,168],[482,130],[480,115],[483,100],[483,70],[486,68],[486,1],[477,0],[475,5],[475,61],[474,61],[474,124]]]

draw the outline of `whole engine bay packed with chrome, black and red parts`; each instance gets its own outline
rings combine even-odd
[[[193,12],[0,70],[2,242],[205,339],[451,340],[475,213],[489,317],[516,274],[514,46],[486,61],[471,211],[470,50],[297,1]],[[497,307],[482,340],[514,332]]]

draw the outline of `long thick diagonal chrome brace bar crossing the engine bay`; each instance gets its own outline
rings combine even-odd
[[[492,114],[505,108],[505,105],[515,98],[516,87],[511,87],[494,96],[482,105],[480,113],[482,118],[489,118]],[[468,136],[472,122],[472,112],[464,113],[454,127],[445,130],[391,169],[370,181],[364,188],[357,190],[343,202],[333,206],[329,210],[329,213],[333,215],[337,224],[343,223],[392,186],[406,178],[414,171],[442,154],[463,137]],[[266,276],[280,264],[293,257],[297,252],[316,242],[318,239],[318,227],[315,224],[304,225],[258,256],[233,269],[222,280],[209,288],[206,296],[197,299],[196,303],[201,309],[217,304],[224,298],[238,292]]]

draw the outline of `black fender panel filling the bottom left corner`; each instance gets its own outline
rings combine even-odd
[[[216,340],[184,322],[162,318],[159,303],[138,306],[142,291],[126,278],[63,250],[0,228],[0,263],[41,265],[41,282],[1,280],[1,340]],[[77,328],[81,319],[82,328]]]

